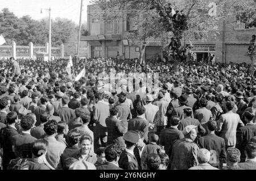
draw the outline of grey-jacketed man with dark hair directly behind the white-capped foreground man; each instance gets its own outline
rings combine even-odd
[[[184,119],[180,120],[180,124],[179,124],[179,127],[178,129],[180,131],[183,131],[183,129],[185,127],[187,127],[188,125],[195,125],[197,128],[196,128],[196,131],[198,131],[198,133],[200,135],[203,135],[205,134],[205,129],[204,127],[200,124],[199,120],[197,119],[193,119],[191,117],[192,115],[192,110],[191,109],[185,109],[184,110]]]

